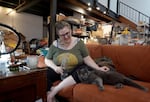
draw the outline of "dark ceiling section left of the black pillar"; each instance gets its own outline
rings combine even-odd
[[[17,12],[27,12],[39,16],[50,14],[50,0],[0,0],[0,6],[13,8]]]

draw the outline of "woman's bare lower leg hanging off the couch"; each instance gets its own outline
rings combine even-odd
[[[61,89],[74,84],[76,84],[76,81],[73,79],[72,76],[68,76],[66,79],[61,81],[57,86],[51,88],[51,91],[47,95],[47,102],[54,102],[53,98]]]

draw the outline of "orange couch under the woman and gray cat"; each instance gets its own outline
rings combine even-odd
[[[134,76],[137,83],[150,89],[150,46],[87,45],[93,59],[101,56],[112,58],[118,72]],[[104,85],[76,84],[61,90],[58,95],[69,102],[150,102],[150,90],[143,92],[131,86],[116,89]]]

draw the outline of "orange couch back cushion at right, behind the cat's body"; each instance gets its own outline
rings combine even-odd
[[[102,55],[112,58],[119,72],[150,82],[150,46],[105,45]]]

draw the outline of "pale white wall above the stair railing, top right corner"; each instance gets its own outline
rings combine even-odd
[[[150,16],[150,0],[120,0],[134,9]]]

